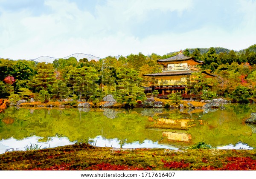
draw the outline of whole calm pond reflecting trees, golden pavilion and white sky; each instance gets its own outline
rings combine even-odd
[[[52,148],[76,142],[114,148],[182,149],[204,141],[220,149],[253,149],[256,126],[244,120],[255,111],[256,105],[210,110],[13,107],[0,113],[0,153],[35,144]]]

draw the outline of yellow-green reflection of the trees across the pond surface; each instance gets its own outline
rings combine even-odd
[[[107,139],[128,139],[129,142],[160,141],[162,132],[178,132],[191,134],[191,144],[197,142],[209,143],[210,145],[229,145],[236,144],[238,141],[256,146],[256,130],[254,126],[243,124],[245,117],[249,117],[249,112],[236,114],[233,107],[226,107],[224,110],[191,111],[191,115],[184,109],[166,110],[154,108],[132,109],[124,112],[118,109],[100,109],[99,111],[90,109],[88,112],[79,111],[76,108],[70,109],[30,109],[7,108],[5,113],[0,113],[0,119],[11,117],[14,120],[7,121],[12,123],[6,125],[0,120],[0,138],[23,139],[28,136],[36,135],[48,139],[48,136],[67,136],[70,141],[86,141],[88,137],[94,138],[101,135]],[[151,121],[148,121],[148,117]],[[150,128],[157,123],[159,118],[173,119],[173,121],[159,121],[160,128]],[[116,118],[118,117],[118,118]],[[224,117],[224,118],[223,118]],[[79,120],[80,118],[80,120]],[[192,119],[194,121],[192,121]],[[220,119],[224,120],[220,122]],[[187,121],[188,120],[188,121]],[[169,124],[176,123],[175,128],[167,128]],[[194,127],[185,127],[193,125]],[[173,125],[175,126],[175,125]],[[181,129],[181,130],[180,130]],[[184,131],[185,129],[186,131]],[[170,145],[173,142],[162,141]],[[177,142],[178,143],[178,142]]]

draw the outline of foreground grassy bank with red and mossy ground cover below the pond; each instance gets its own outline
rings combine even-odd
[[[256,150],[132,150],[79,144],[4,153],[0,170],[256,170]]]

